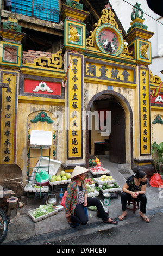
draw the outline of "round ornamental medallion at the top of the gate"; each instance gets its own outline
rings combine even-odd
[[[99,50],[104,53],[118,56],[123,51],[123,36],[113,25],[99,26],[95,32],[95,40]]]

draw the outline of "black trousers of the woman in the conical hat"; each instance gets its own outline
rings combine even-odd
[[[87,197],[87,207],[89,206],[96,206],[97,211],[99,213],[99,216],[102,218],[103,221],[108,221],[108,215],[106,214],[102,203],[97,198]],[[74,215],[71,214],[70,218],[71,222],[77,222],[81,225],[87,224],[87,216],[84,211],[84,205],[83,204],[77,204],[76,208],[74,210]]]

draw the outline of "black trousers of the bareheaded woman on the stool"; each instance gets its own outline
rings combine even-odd
[[[137,198],[132,198],[131,194],[122,192],[122,195],[121,195],[122,211],[126,211],[126,204],[128,200],[139,201],[140,210],[142,211],[143,214],[146,213],[147,197],[145,194],[139,194]]]

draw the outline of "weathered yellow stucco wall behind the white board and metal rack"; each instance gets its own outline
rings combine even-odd
[[[35,116],[41,112],[45,111],[48,116],[54,121],[53,124],[48,124],[46,122],[38,122],[38,123],[32,123],[30,120],[35,118]],[[66,150],[66,131],[65,131],[65,123],[63,123],[63,129],[58,129],[57,126],[55,126],[56,121],[58,119],[55,118],[54,112],[60,111],[64,117],[64,107],[57,107],[57,106],[50,106],[50,105],[36,105],[36,104],[24,104],[19,103],[18,109],[17,109],[17,144],[16,144],[16,164],[20,166],[22,172],[23,172],[23,181],[26,180],[26,174],[27,174],[27,154],[28,154],[28,146],[29,146],[29,140],[28,140],[28,132],[30,130],[45,130],[45,131],[52,131],[52,137],[55,130],[55,134],[57,136],[56,138],[56,156],[55,159],[61,162],[65,161],[65,150]],[[63,119],[64,122],[64,119]],[[30,125],[29,125],[30,124]],[[59,125],[59,122],[57,121],[57,125]],[[57,130],[56,130],[57,128]],[[30,129],[30,130],[29,130]],[[31,150],[32,156],[38,156],[41,155],[41,151],[37,149]],[[42,150],[42,155],[45,156],[48,154],[47,149]],[[53,159],[53,139],[52,139],[52,146],[51,146],[51,159]],[[35,159],[36,162],[38,159]],[[61,169],[61,167],[60,167]],[[60,172],[60,169],[58,173]]]

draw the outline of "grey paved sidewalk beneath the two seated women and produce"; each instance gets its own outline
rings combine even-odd
[[[120,187],[123,187],[127,176],[131,176],[130,170],[126,174],[120,173],[120,165],[108,161],[107,156],[100,157],[103,167],[110,170],[110,175],[116,180]],[[163,212],[163,189],[152,187],[149,182],[146,188],[147,207],[146,215],[153,217],[156,213]],[[103,196],[100,192],[98,198],[103,202]],[[121,227],[126,225],[126,222],[133,223],[135,220],[143,222],[139,217],[139,210],[133,214],[133,211],[127,210],[127,217],[124,221],[118,221],[118,225],[104,224],[97,217],[97,212],[88,209],[89,222],[87,225],[79,225],[76,228],[71,228],[65,218],[65,210],[58,214],[34,222],[28,216],[28,211],[39,207],[39,199],[34,201],[34,198],[26,198],[26,205],[17,209],[17,215],[10,219],[8,225],[8,233],[1,245],[48,245],[55,241],[73,239],[75,237],[86,236],[89,234],[109,230],[112,227]],[[58,205],[58,203],[57,203]],[[118,198],[111,198],[110,205],[106,206],[109,209],[109,217],[118,220],[118,216],[122,213],[121,210],[121,192],[118,193]],[[152,220],[151,220],[152,221]],[[147,223],[145,223],[147,224]],[[148,223],[147,225],[150,225]]]

